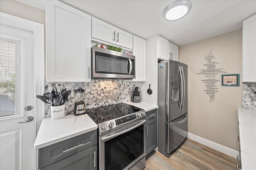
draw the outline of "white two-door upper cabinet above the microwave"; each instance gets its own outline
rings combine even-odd
[[[132,49],[132,34],[94,17],[92,17],[92,38]]]

